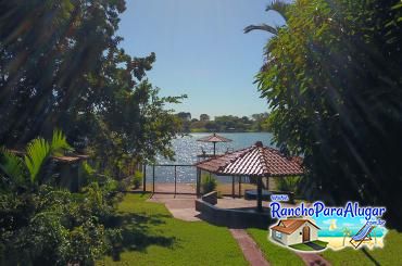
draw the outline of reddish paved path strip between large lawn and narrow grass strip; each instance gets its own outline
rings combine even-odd
[[[246,259],[252,266],[269,266],[255,241],[243,229],[229,229],[231,236],[240,245]]]

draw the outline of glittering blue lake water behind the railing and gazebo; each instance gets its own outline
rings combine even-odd
[[[191,134],[189,136],[177,138],[173,141],[173,149],[176,153],[175,162],[158,159],[158,164],[194,164],[197,163],[197,154],[201,154],[203,149],[206,153],[213,153],[213,143],[200,142],[198,139],[211,134]],[[229,150],[238,150],[250,147],[255,141],[261,140],[264,145],[271,145],[272,135],[267,132],[237,132],[237,134],[219,134],[221,136],[231,139],[231,142],[216,143],[216,153],[224,153]],[[147,167],[148,180],[152,180],[152,169]],[[155,167],[156,182],[173,182],[173,167]],[[194,182],[196,167],[177,167],[177,182]]]

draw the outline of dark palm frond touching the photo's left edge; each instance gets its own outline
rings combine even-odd
[[[0,169],[14,181],[22,181],[24,168],[21,157],[4,148],[0,148]]]

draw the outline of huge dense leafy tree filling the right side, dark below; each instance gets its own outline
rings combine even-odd
[[[276,143],[304,155],[304,193],[386,205],[400,227],[401,8],[398,1],[298,0],[256,77]]]

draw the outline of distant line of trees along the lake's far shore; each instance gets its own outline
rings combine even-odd
[[[253,114],[251,117],[235,115],[215,116],[201,114],[199,118],[192,118],[191,113],[180,112],[176,114],[181,122],[181,132],[259,132],[268,131],[268,114]]]

